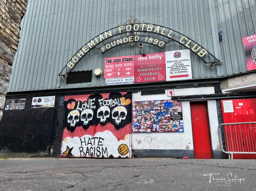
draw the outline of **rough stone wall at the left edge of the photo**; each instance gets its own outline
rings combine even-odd
[[[27,0],[0,0],[0,120],[20,39],[20,22]]]

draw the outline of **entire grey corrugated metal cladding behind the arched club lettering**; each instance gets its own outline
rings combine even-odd
[[[91,83],[66,85],[58,73],[87,41],[125,22],[131,14],[189,36],[222,61],[212,69],[191,54],[193,79],[245,72],[242,37],[255,34],[254,10],[255,0],[29,0],[9,92],[104,86],[103,75],[93,75]],[[179,49],[184,47],[178,43],[169,43],[164,50],[145,44],[144,52]],[[140,54],[139,48],[128,44],[105,54],[92,50],[73,71],[104,70],[105,57],[134,54]]]

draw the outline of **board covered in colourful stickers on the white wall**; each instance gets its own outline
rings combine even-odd
[[[183,132],[181,102],[178,100],[133,102],[132,132]]]

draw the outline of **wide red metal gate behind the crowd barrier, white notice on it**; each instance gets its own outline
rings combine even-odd
[[[256,98],[221,100],[221,106],[224,123],[246,124],[256,121]],[[255,147],[255,125],[227,125],[225,129],[227,151],[253,151],[251,148]],[[233,159],[256,159],[256,154],[234,154]]]

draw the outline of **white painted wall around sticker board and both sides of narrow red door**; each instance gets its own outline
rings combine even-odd
[[[214,87],[206,87],[205,91],[202,88],[183,88],[175,89],[175,96],[186,92],[186,95],[196,94],[214,94]],[[141,92],[132,95],[133,102],[148,101],[148,100],[170,100],[171,97],[166,94],[156,95],[141,95]],[[218,145],[218,114],[215,100],[208,100],[208,117],[209,128],[212,141],[212,150],[220,150]],[[190,102],[182,101],[182,114],[184,132],[182,133],[132,133],[131,143],[133,149],[188,149],[193,150],[193,135]]]

